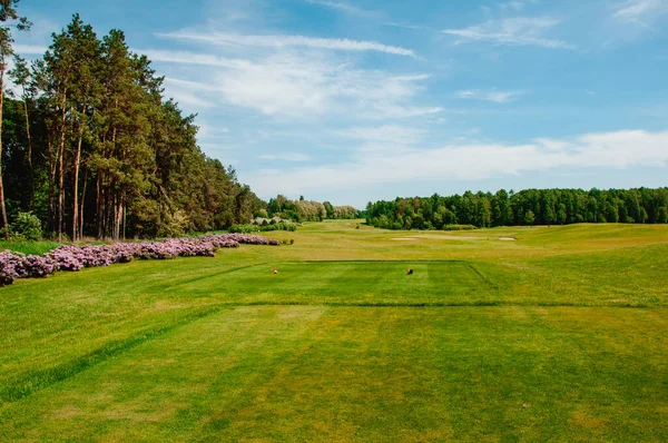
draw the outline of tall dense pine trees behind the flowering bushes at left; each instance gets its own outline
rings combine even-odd
[[[0,93],[4,228],[32,211],[59,240],[176,236],[246,223],[263,206],[202,152],[195,116],[165,98],[164,77],[122,31],[100,39],[75,14],[29,65],[11,45],[30,24],[17,2],[0,0],[0,88],[16,86]]]

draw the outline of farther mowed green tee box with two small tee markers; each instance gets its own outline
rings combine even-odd
[[[409,275],[407,269],[413,269]],[[493,285],[466,262],[288,262],[169,287],[234,304],[449,305]]]

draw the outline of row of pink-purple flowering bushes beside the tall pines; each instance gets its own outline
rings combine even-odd
[[[246,245],[274,245],[257,235],[222,234],[193,238],[167,238],[159,242],[115,243],[111,245],[62,245],[39,255],[4,250],[0,253],[0,286],[11,285],[17,278],[39,278],[56,270],[79,270],[84,267],[128,263],[135,258],[168,259],[174,257],[214,257],[218,248]]]

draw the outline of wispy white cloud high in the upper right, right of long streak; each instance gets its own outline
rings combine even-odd
[[[479,26],[463,29],[445,29],[442,32],[461,37],[462,41],[488,41],[504,46],[538,46],[554,49],[574,49],[563,40],[543,37],[543,32],[559,24],[551,18],[519,17],[511,19],[490,20]]]

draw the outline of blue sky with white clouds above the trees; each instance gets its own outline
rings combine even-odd
[[[668,181],[668,0],[22,0],[121,29],[262,198]]]

